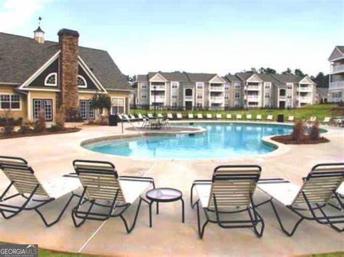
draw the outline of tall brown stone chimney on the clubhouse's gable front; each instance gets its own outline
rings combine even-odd
[[[75,30],[61,29],[57,35],[61,46],[60,57],[60,106],[63,105],[67,121],[73,121],[78,117],[78,38]]]

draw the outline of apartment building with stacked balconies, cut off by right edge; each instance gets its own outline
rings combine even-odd
[[[329,101],[344,101],[344,46],[335,46],[330,57]]]

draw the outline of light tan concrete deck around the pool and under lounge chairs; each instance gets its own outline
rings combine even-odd
[[[128,127],[125,124],[125,127]],[[125,135],[135,134],[124,130]],[[71,206],[61,221],[46,228],[34,212],[23,212],[4,220],[0,218],[0,241],[13,243],[38,243],[39,247],[61,251],[107,255],[298,255],[344,250],[343,233],[327,226],[305,221],[293,237],[285,236],[269,205],[259,208],[266,228],[262,238],[250,229],[226,230],[208,225],[204,238],[197,234],[196,211],[190,208],[190,187],[195,179],[210,179],[214,167],[220,164],[258,164],[263,168],[262,178],[283,177],[300,185],[311,167],[317,163],[343,162],[344,129],[329,128],[328,143],[316,145],[288,145],[283,152],[237,160],[131,160],[104,155],[84,149],[80,143],[95,137],[121,134],[121,127],[83,126],[70,134],[24,137],[0,140],[0,155],[25,158],[41,181],[73,172],[75,159],[107,160],[115,164],[119,175],[144,175],[155,179],[157,187],[175,187],[183,192],[185,224],[181,223],[180,202],[162,203],[159,215],[153,215],[149,228],[148,206],[143,204],[136,228],[126,234],[119,219],[106,222],[87,221],[80,228],[73,226]],[[0,173],[0,191],[9,181]],[[42,208],[48,219],[55,217],[68,196]],[[255,201],[267,199],[257,190]],[[133,220],[137,202],[125,214]],[[287,226],[294,224],[296,216],[282,211]],[[289,227],[288,226],[288,227]]]

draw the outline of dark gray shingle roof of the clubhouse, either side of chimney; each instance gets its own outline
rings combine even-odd
[[[57,42],[39,44],[29,37],[0,32],[0,82],[23,83],[59,49]],[[131,89],[106,51],[80,46],[79,56],[105,88]]]

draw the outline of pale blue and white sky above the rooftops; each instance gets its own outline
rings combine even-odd
[[[47,40],[77,30],[80,45],[107,50],[124,74],[263,66],[316,75],[344,45],[344,0],[0,0],[1,32],[32,37],[38,16]]]

